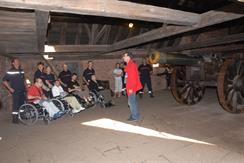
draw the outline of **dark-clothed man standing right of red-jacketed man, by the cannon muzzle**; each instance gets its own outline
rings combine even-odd
[[[152,73],[152,66],[147,63],[147,58],[142,59],[142,64],[138,67],[138,70],[140,72],[140,80],[142,84],[142,89],[139,91],[139,96],[142,97],[143,95],[143,89],[145,84],[147,84],[148,93],[150,97],[153,96],[152,92],[152,82],[151,82],[151,73]]]

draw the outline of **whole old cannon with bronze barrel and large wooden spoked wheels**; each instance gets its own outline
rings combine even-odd
[[[229,113],[244,112],[244,60],[236,58],[189,56],[149,52],[150,64],[173,66],[171,93],[181,104],[200,102],[207,86],[216,87],[222,108]]]

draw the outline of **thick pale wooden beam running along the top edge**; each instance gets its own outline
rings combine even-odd
[[[194,25],[200,20],[199,14],[195,13],[115,0],[1,0],[0,6],[178,25]]]

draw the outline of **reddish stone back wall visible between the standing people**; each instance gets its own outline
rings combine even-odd
[[[1,56],[0,56],[1,57]],[[32,83],[34,79],[34,73],[36,71],[36,65],[40,60],[37,59],[21,59],[22,68],[25,71],[25,76],[28,78]],[[115,67],[117,62],[121,62],[119,59],[107,59],[107,60],[92,60],[94,63],[94,69],[96,71],[96,77],[99,80],[109,80],[110,88],[114,89],[114,78],[112,71]],[[69,61],[51,61],[53,66],[60,72],[62,70],[62,65],[67,63],[68,65],[75,65],[76,73],[78,73],[79,79],[81,79],[83,70],[87,67],[88,60],[69,60]],[[138,65],[141,63],[141,60],[136,60]],[[1,57],[1,79],[2,75],[5,71],[9,68],[9,61],[5,57]],[[154,68],[153,75],[152,75],[152,85],[153,90],[160,90],[165,88],[165,80],[163,77],[156,76],[157,73],[162,72],[161,68]],[[81,80],[80,80],[81,82]],[[2,99],[7,99],[7,101],[11,101],[10,95],[7,93],[6,89],[3,89],[1,86],[0,91],[1,101],[5,101]],[[9,102],[8,102],[9,103]],[[6,107],[7,104],[4,103],[5,110],[11,110],[10,107]],[[11,105],[8,105],[11,106]]]

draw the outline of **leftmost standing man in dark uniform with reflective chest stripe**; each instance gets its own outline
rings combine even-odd
[[[13,97],[12,116],[13,123],[18,123],[19,107],[25,102],[25,72],[20,68],[17,58],[11,60],[12,68],[3,77],[3,85]]]

